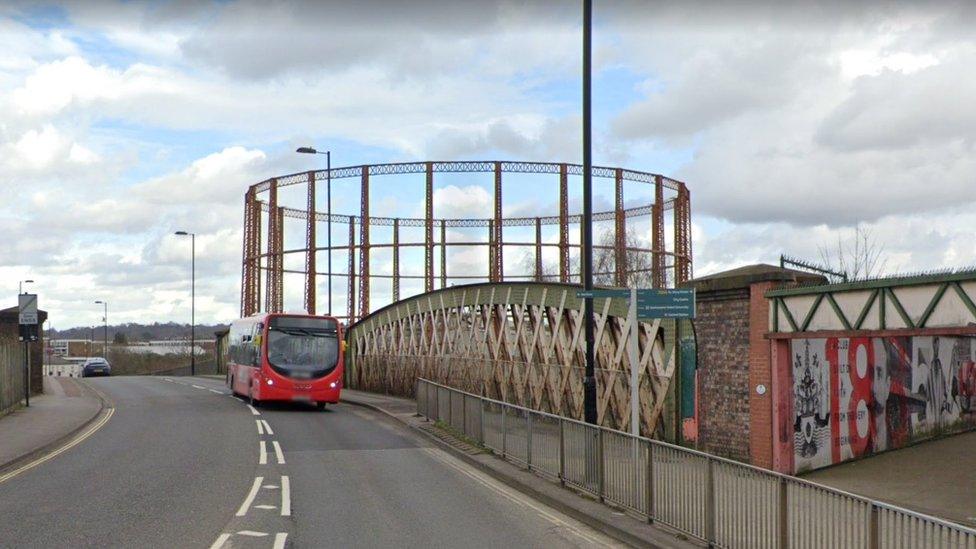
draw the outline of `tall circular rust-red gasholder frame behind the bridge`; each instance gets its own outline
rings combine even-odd
[[[489,218],[448,218],[435,217],[434,212],[434,181],[436,174],[491,174],[492,185],[492,215]],[[358,215],[351,212],[332,212],[331,218],[326,213],[316,211],[316,186],[330,179],[328,170],[301,172],[281,177],[274,177],[252,185],[244,198],[244,249],[242,254],[242,284],[241,284],[241,314],[244,316],[257,313],[282,311],[284,308],[284,279],[286,273],[301,274],[304,282],[304,306],[309,312],[322,312],[317,307],[320,296],[316,292],[318,277],[328,275],[318,269],[315,254],[327,251],[329,248],[321,246],[317,241],[316,223],[333,223],[346,225],[348,240],[345,243],[333,242],[332,251],[346,254],[348,266],[344,272],[334,270],[333,277],[345,280],[346,310],[345,314],[333,311],[334,316],[347,322],[368,315],[375,307],[370,303],[371,288],[381,280],[390,284],[393,301],[402,297],[401,282],[406,279],[423,280],[423,289],[430,292],[435,289],[439,280],[440,286],[447,286],[449,281],[461,283],[479,281],[504,282],[506,280],[535,280],[553,281],[561,283],[579,280],[579,273],[572,266],[571,255],[579,251],[579,244],[570,238],[570,227],[578,229],[581,222],[579,213],[569,211],[571,177],[581,177],[583,167],[578,164],[548,163],[548,162],[506,162],[506,161],[466,161],[466,162],[411,162],[396,164],[377,164],[368,166],[347,166],[333,168],[331,180],[359,179],[360,200]],[[387,180],[397,175],[423,174],[424,184],[424,217],[379,217],[371,215],[370,189],[382,189]],[[552,193],[558,201],[556,215],[534,217],[504,217],[503,216],[503,187],[506,174],[551,174]],[[614,238],[612,245],[597,246],[608,249],[613,257],[613,265],[605,273],[597,272],[597,276],[612,276],[614,285],[626,286],[628,274],[640,271],[638,267],[629,266],[628,253],[651,254],[651,267],[644,269],[651,271],[651,280],[655,287],[666,287],[689,280],[692,276],[691,249],[691,202],[687,186],[674,179],[647,172],[627,170],[624,168],[594,167],[593,177],[611,180],[614,185],[614,209],[594,214],[596,222],[612,222]],[[624,183],[635,182],[651,187],[646,203],[624,205]],[[291,207],[281,204],[279,189],[293,185],[306,185],[306,200],[301,207]],[[418,188],[419,190],[419,188]],[[547,186],[540,185],[539,196],[549,196]],[[382,197],[384,193],[374,192]],[[633,201],[631,201],[633,204]],[[671,216],[674,230],[669,235],[665,230],[666,212]],[[634,218],[650,217],[651,234],[648,240],[651,247],[644,248],[628,245],[627,223]],[[296,219],[305,222],[305,244],[297,249],[285,249],[284,226],[286,219]],[[558,241],[545,241],[543,228],[558,226]],[[378,241],[371,229],[374,227],[391,227],[392,239]],[[468,240],[448,240],[448,229],[476,228],[487,229],[487,238]],[[506,240],[505,229],[512,227],[529,227],[535,229],[535,238],[531,242],[522,240]],[[422,228],[423,239],[409,239],[402,234],[404,228]],[[266,235],[262,236],[262,229]],[[341,234],[341,230],[337,233]],[[482,233],[485,234],[485,233]],[[448,249],[458,247],[487,248],[487,268],[484,273],[450,273],[447,261]],[[405,264],[401,258],[401,251],[406,248],[422,247],[424,250],[423,272],[403,272]],[[533,250],[535,261],[525,272],[513,274],[520,254],[506,253],[513,247]],[[558,273],[545,273],[542,255],[546,248],[553,248],[558,254]],[[371,261],[371,252],[388,249],[392,253],[392,268],[377,271],[377,266]],[[287,269],[286,256],[302,254],[304,269]],[[440,256],[440,261],[435,256]],[[514,256],[514,259],[512,259]],[[506,264],[505,259],[510,258]],[[439,266],[439,269],[437,268]],[[335,269],[335,268],[334,268]],[[409,267],[407,267],[409,269]],[[439,271],[439,272],[438,272]],[[262,289],[262,277],[264,278]],[[264,308],[262,305],[262,291],[264,292]],[[335,290],[332,300],[342,293],[342,284]]]

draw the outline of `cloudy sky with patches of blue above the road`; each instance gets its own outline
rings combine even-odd
[[[687,183],[696,275],[857,227],[886,272],[976,264],[973,3],[594,4],[594,162]],[[580,40],[566,1],[0,0],[0,295],[33,279],[56,328],[100,323],[95,300],[187,322],[185,230],[197,321],[227,322],[244,192],[323,167],[297,146],[580,162]],[[488,185],[439,178],[435,209],[488,217]],[[512,187],[506,215],[554,208]],[[419,215],[420,188],[374,214]]]

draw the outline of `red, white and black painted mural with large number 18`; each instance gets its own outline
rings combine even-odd
[[[780,456],[791,471],[976,426],[976,338],[794,339],[780,350],[778,452],[791,453]]]

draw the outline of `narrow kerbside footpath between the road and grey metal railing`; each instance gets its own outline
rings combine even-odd
[[[342,401],[371,408],[411,428],[422,431],[432,441],[469,465],[496,480],[570,516],[587,526],[635,547],[690,548],[702,547],[684,535],[648,524],[617,509],[578,494],[559,484],[475,447],[417,415],[417,403],[412,399],[342,389]]]

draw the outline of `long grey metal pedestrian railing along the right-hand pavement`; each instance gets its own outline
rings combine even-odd
[[[718,547],[976,549],[976,530],[665,442],[417,380],[417,413]]]

